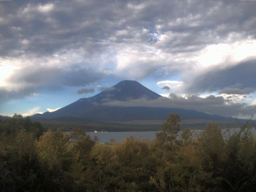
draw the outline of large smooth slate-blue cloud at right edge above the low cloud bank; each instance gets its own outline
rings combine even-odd
[[[218,91],[252,93],[256,88],[256,60],[241,62],[226,68],[215,67],[200,74],[192,82],[187,83],[189,92]],[[232,88],[230,88],[232,87]],[[249,87],[249,88],[248,88]]]

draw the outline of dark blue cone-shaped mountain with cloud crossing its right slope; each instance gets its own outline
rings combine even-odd
[[[108,101],[126,101],[130,99],[146,98],[157,99],[159,94],[149,90],[136,81],[124,80],[111,88],[90,98],[81,98],[54,112],[35,114],[31,118],[56,118],[70,116],[100,122],[118,122],[130,120],[165,120],[171,112],[176,112],[186,120],[234,120],[232,117],[210,115],[195,110],[180,108],[153,108],[153,107],[114,107],[102,105]]]

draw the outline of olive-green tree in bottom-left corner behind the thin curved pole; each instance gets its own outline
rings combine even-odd
[[[42,167],[36,152],[34,135],[24,129],[16,136],[8,136],[3,140],[0,151],[0,173],[8,171],[15,176],[16,189],[37,191],[40,189]]]

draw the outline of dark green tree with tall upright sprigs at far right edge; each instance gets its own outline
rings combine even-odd
[[[252,134],[250,120],[242,128],[226,138],[224,187],[230,191],[255,191],[256,180],[256,140]],[[252,187],[254,186],[254,187]]]

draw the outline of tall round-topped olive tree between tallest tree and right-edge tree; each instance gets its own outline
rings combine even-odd
[[[207,124],[204,132],[198,136],[199,169],[194,182],[200,190],[220,191],[224,179],[224,138],[218,124]]]

